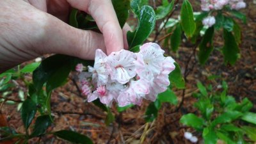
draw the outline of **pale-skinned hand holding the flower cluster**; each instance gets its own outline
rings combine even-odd
[[[73,28],[70,8],[92,15],[100,33]],[[67,54],[93,60],[96,49],[107,54],[127,48],[111,0],[0,1],[0,73],[43,54]]]

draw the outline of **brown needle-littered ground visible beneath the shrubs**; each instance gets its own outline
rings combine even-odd
[[[185,131],[193,132],[198,138],[201,136],[192,129],[182,126],[179,123],[179,118],[185,113],[195,112],[193,109],[195,99],[191,97],[191,94],[198,91],[196,81],[218,86],[223,79],[228,83],[230,95],[234,95],[237,100],[248,97],[253,104],[256,104],[256,5],[252,4],[252,1],[248,1],[248,3],[250,3],[248,8],[244,10],[244,13],[248,15],[248,23],[241,25],[243,29],[243,44],[240,46],[241,58],[233,67],[223,65],[220,51],[214,51],[204,67],[198,65],[197,62],[193,66],[193,61],[196,60],[192,58],[189,63],[192,71],[187,77],[184,104],[179,111],[175,111],[175,106],[164,104],[159,111],[157,120],[146,124],[143,116],[149,102],[145,101],[142,106],[127,109],[124,113],[118,113],[116,109],[113,109],[116,120],[114,124],[107,127],[104,124],[106,113],[93,104],[84,102],[85,97],[79,96],[76,86],[70,79],[65,86],[52,93],[51,106],[55,124],[49,131],[71,129],[90,136],[95,143],[136,144],[140,141],[143,143],[189,143],[183,138]],[[216,36],[215,39],[216,44],[214,45],[221,46],[222,38]],[[180,47],[178,54],[172,54],[183,72],[191,52],[191,47]],[[207,80],[207,77],[212,75],[220,76],[222,79],[216,79],[212,83]],[[26,78],[31,79],[31,76]],[[24,89],[23,85],[17,81],[17,87],[13,90],[10,98],[17,99],[18,90]],[[180,101],[182,91],[177,91],[176,94]],[[255,105],[253,111],[256,112]],[[20,114],[17,112],[17,104],[4,104],[2,112],[10,127],[15,128],[17,132],[24,132]],[[54,136],[47,136],[42,138],[40,143],[67,142],[58,140]]]

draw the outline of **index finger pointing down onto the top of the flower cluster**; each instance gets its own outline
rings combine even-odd
[[[122,29],[111,0],[67,0],[74,8],[90,13],[104,36],[107,53],[124,48]],[[100,48],[100,47],[99,47]]]

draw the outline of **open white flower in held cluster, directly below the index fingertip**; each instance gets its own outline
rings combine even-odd
[[[112,52],[107,58],[111,80],[125,84],[136,76],[134,60],[136,60],[136,55],[133,52],[124,49]]]

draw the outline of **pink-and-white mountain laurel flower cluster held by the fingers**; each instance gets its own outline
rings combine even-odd
[[[106,56],[97,49],[93,67],[78,64],[81,89],[88,102],[100,99],[111,106],[140,105],[143,99],[154,101],[170,84],[168,75],[175,69],[172,57],[164,57],[164,51],[155,43],[147,43],[134,53],[122,49]]]

